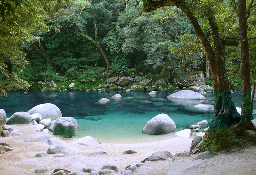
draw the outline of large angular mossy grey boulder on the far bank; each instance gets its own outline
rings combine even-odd
[[[174,83],[179,88],[189,87],[196,84],[204,84],[204,73],[195,71],[190,74],[186,74],[183,77],[176,77]]]

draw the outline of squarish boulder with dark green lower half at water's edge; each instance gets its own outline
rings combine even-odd
[[[53,134],[71,138],[76,134],[77,122],[72,117],[57,118],[53,126]]]

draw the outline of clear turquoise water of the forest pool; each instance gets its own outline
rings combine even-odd
[[[121,100],[111,96],[121,94]],[[24,95],[11,92],[0,98],[0,108],[7,118],[14,112],[28,111],[41,103],[57,105],[63,117],[74,117],[78,123],[76,137],[92,136],[98,142],[134,143],[162,140],[175,137],[174,133],[201,120],[208,122],[212,111],[192,108],[195,104],[214,104],[214,93],[204,95],[204,101],[179,100],[170,101],[166,96],[171,92],[159,92],[156,97],[148,92],[42,92],[33,91]],[[241,93],[233,94],[237,107],[241,105]],[[107,104],[98,104],[101,98],[109,98]],[[176,124],[176,131],[163,135],[148,135],[141,131],[151,118],[160,113],[169,115]]]

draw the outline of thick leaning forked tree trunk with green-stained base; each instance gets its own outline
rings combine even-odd
[[[214,48],[212,48],[193,11],[191,11],[189,5],[186,4],[185,1],[144,0],[143,3],[147,11],[152,11],[163,6],[176,6],[188,17],[197,37],[199,38],[205,50],[212,73],[213,88],[215,91],[215,109],[210,124],[210,129],[217,129],[238,123],[240,121],[240,115],[236,111],[235,103],[228,85],[225,67],[225,46],[221,42],[219,28],[215,21],[214,15],[212,15],[214,13],[208,9],[208,11],[206,11],[207,15],[205,16],[205,18],[208,19],[212,30],[212,39],[214,42]]]

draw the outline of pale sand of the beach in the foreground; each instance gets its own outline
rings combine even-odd
[[[1,174],[35,174],[34,171],[39,167],[47,168],[49,171],[43,174],[51,174],[56,168],[65,168],[69,171],[82,171],[83,168],[91,168],[92,171],[99,171],[104,164],[114,164],[119,171],[124,171],[128,165],[136,165],[156,151],[169,151],[172,155],[189,151],[192,138],[175,137],[163,141],[154,141],[149,143],[133,144],[114,144],[99,143],[97,147],[87,147],[83,145],[74,145],[80,149],[79,153],[55,157],[49,155],[45,157],[35,157],[37,153],[46,152],[50,147],[47,143],[42,142],[24,142],[23,140],[29,135],[40,134],[35,131],[32,125],[12,125],[23,133],[23,136],[10,136],[0,138],[0,142],[9,144],[13,151],[0,154],[0,172]],[[52,134],[50,132],[50,134]],[[60,136],[55,138],[61,139],[67,143],[75,141],[76,138],[67,139]],[[123,151],[133,149],[136,154],[122,154]],[[92,151],[105,151],[108,155],[88,156]],[[247,148],[242,151],[231,153],[222,153],[212,159],[204,160],[192,168],[185,168],[197,154],[187,157],[169,158],[149,162],[138,167],[133,174],[167,174],[168,169],[177,165],[177,172],[172,174],[256,174],[256,148]],[[180,167],[180,168],[179,168]]]

